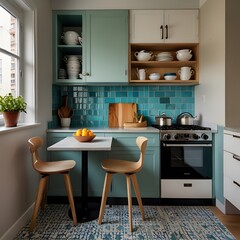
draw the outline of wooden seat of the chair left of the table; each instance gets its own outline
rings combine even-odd
[[[38,162],[35,164],[36,170],[41,174],[54,174],[68,172],[74,168],[76,162],[74,160],[62,160],[55,162]]]

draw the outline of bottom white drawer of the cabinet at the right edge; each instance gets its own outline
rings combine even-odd
[[[239,186],[232,179],[224,177],[224,197],[240,210],[240,183]]]

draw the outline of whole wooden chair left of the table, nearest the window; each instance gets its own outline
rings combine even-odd
[[[52,174],[63,174],[64,176],[64,182],[66,185],[68,200],[69,200],[71,211],[72,211],[73,224],[76,226],[77,217],[76,217],[74,199],[72,194],[72,186],[71,186],[71,181],[69,176],[69,171],[74,168],[74,166],[76,165],[76,162],[74,160],[44,162],[40,159],[39,152],[38,152],[38,149],[43,146],[43,139],[40,137],[33,137],[28,140],[28,143],[29,143],[30,152],[32,154],[33,168],[42,176],[38,186],[37,198],[35,201],[32,221],[30,225],[30,231],[32,231],[36,225],[36,219],[37,219],[37,214],[38,214],[40,204],[42,209],[44,209],[45,207],[46,198],[47,198],[47,183],[48,183],[49,176]]]

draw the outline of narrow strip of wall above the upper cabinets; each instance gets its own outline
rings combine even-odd
[[[199,0],[52,0],[53,9],[192,9]]]

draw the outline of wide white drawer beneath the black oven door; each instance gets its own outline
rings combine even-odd
[[[212,180],[161,180],[161,198],[212,198]]]

